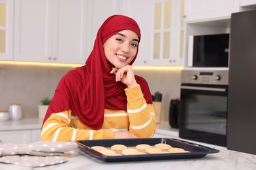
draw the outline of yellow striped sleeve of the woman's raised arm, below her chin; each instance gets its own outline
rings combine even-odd
[[[154,107],[147,104],[140,86],[126,88],[129,132],[137,137],[153,137],[156,132]]]

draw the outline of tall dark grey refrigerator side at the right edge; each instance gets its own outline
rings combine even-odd
[[[256,10],[234,13],[230,28],[227,148],[256,154]]]

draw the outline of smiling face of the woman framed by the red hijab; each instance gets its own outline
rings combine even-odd
[[[125,29],[110,37],[104,44],[106,58],[117,69],[131,63],[137,54],[139,36],[134,31]]]

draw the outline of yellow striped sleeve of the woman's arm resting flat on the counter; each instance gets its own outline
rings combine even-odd
[[[76,120],[74,120],[76,119]],[[75,123],[70,123],[75,122]],[[112,131],[92,130],[72,116],[71,110],[53,113],[41,129],[42,141],[80,141],[93,139],[113,139]]]

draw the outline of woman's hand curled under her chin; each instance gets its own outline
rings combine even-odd
[[[123,84],[126,84],[128,88],[138,85],[131,65],[126,65],[125,67],[121,67],[121,69],[117,69],[115,67],[110,71],[110,73],[114,73],[116,75],[116,82],[121,81]]]

